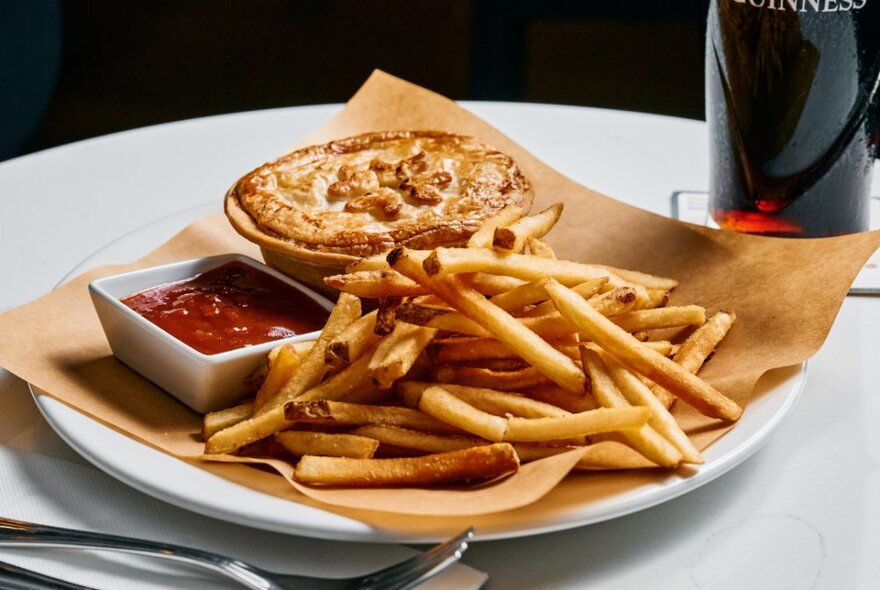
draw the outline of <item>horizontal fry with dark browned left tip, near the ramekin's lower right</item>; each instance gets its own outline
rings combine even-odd
[[[294,401],[284,407],[288,424],[326,424],[334,426],[365,426],[384,424],[428,432],[461,433],[461,430],[412,408],[372,406],[327,400]]]

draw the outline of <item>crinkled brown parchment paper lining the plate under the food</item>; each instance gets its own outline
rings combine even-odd
[[[333,120],[303,140],[291,138],[291,144],[394,129],[474,135],[512,155],[535,185],[535,210],[565,203],[562,220],[548,238],[561,257],[672,276],[681,281],[673,301],[699,303],[710,312],[736,311],[733,330],[701,376],[742,405],[767,370],[800,363],[819,349],[849,285],[880,246],[880,232],[814,240],[762,238],[635,209],[562,176],[455,103],[382,72],[374,73]],[[230,171],[230,184],[239,172]],[[217,195],[218,203],[222,198]],[[403,526],[392,524],[387,513],[394,512],[449,517],[527,506],[553,490],[579,459],[576,451],[536,461],[512,477],[476,488],[379,490],[292,486],[291,468],[281,461],[263,462],[279,477],[240,462],[199,459],[200,417],[113,358],[87,285],[101,276],[225,252],[259,257],[222,215],[212,216],[135,263],[95,269],[0,315],[0,365],[99,422],[231,481],[385,526]],[[700,448],[730,427],[682,403],[676,412]],[[609,488],[607,477],[603,490],[650,481],[641,474],[619,474],[610,476],[618,479]],[[567,501],[595,497],[589,486],[597,480],[574,480],[575,492],[569,486]]]

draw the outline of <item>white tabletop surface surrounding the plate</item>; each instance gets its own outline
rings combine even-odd
[[[702,123],[464,104],[562,173],[644,209],[668,215],[673,191],[707,187]],[[221,199],[232,180],[286,151],[338,108],[161,125],[0,163],[0,310],[47,292],[118,236]],[[880,179],[874,181],[876,194]],[[809,363],[801,401],[767,445],[732,472],[603,524],[477,543],[464,562],[489,573],[487,588],[878,587],[878,327],[880,299],[848,298]],[[3,371],[0,396],[19,407],[31,403],[23,384]],[[36,409],[24,412],[24,421],[0,419],[0,450],[80,462]]]

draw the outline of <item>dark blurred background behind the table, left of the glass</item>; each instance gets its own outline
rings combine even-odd
[[[0,0],[0,159],[344,102],[374,68],[454,99],[703,118],[708,0]]]

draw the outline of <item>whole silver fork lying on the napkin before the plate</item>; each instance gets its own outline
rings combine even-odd
[[[238,559],[191,547],[0,518],[0,546],[79,547],[171,559],[209,569],[253,590],[415,588],[458,561],[473,536],[474,529],[471,527],[424,553],[371,574],[354,578],[325,579],[278,574]]]

